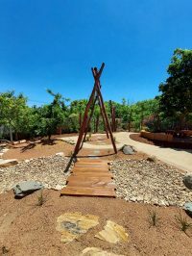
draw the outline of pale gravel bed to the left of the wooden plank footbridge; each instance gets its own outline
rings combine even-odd
[[[68,162],[69,158],[51,156],[25,160],[16,166],[2,167],[0,192],[10,191],[18,182],[27,180],[40,182],[47,189],[60,189],[65,186],[69,175],[69,172],[63,173]]]

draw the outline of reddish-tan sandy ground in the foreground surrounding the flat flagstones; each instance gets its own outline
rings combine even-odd
[[[12,192],[0,194],[0,248],[6,249],[7,255],[77,256],[88,246],[132,256],[191,255],[192,234],[180,231],[175,220],[179,215],[177,208],[114,198],[60,197],[60,192],[55,191],[45,191],[46,202],[36,206],[38,194],[35,192],[20,200],[14,199]],[[156,227],[152,227],[148,220],[150,209],[156,210],[159,218]],[[67,212],[97,215],[100,224],[77,241],[63,244],[60,233],[56,231],[56,219]],[[184,212],[181,214],[191,220]],[[126,228],[130,235],[129,243],[109,244],[94,238],[108,219]]]

